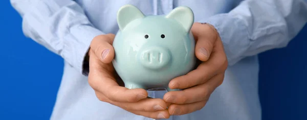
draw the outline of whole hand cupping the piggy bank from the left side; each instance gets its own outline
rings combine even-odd
[[[151,118],[169,118],[166,103],[148,99],[145,89],[127,89],[112,64],[114,34],[99,35],[92,40],[89,50],[89,84],[100,101],[121,107],[129,112]],[[118,80],[118,81],[117,81]],[[122,83],[121,86],[119,83]]]

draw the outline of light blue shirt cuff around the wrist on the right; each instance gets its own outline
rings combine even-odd
[[[243,59],[250,40],[244,20],[229,13],[217,14],[199,22],[212,25],[220,34],[229,65]]]

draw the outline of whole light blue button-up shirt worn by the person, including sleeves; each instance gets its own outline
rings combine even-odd
[[[257,54],[287,46],[307,20],[307,4],[302,0],[11,0],[11,4],[23,17],[24,34],[65,61],[54,120],[151,120],[100,102],[83,75],[91,40],[118,31],[116,13],[125,4],[137,6],[146,15],[188,6],[195,22],[210,23],[222,38],[229,61],[224,83],[202,110],[171,116],[173,120],[261,119]],[[150,91],[149,95],[162,98],[164,93]]]

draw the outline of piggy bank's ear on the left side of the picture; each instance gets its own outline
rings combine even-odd
[[[133,5],[124,5],[117,12],[117,23],[120,30],[123,30],[129,22],[143,18],[144,14]]]

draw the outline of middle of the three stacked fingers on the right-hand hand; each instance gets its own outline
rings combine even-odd
[[[182,91],[170,91],[165,93],[163,100],[173,104],[189,104],[208,100],[213,90],[221,85],[224,74],[218,74],[204,84],[197,85]]]

